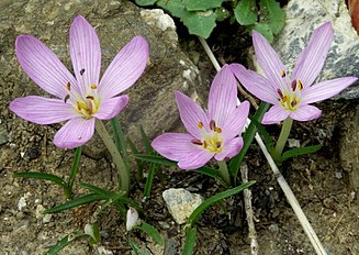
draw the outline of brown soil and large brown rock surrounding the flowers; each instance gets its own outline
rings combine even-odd
[[[128,91],[133,100],[122,117],[123,123],[130,123],[125,124],[126,133],[136,137],[139,124],[152,136],[162,130],[180,129],[175,114],[173,89],[197,95],[200,101],[205,99],[214,70],[195,37],[179,27],[178,44],[171,29],[164,32],[152,26],[148,20],[143,20],[141,10],[126,1],[1,1],[0,7],[0,254],[44,254],[59,239],[82,231],[86,223],[94,220],[99,223],[102,243],[92,247],[86,241],[78,241],[60,254],[131,254],[128,239],[147,247],[149,254],[161,254],[161,248],[148,236],[126,233],[114,208],[96,219],[98,203],[42,214],[43,210],[65,201],[63,191],[46,181],[13,176],[15,171],[40,170],[66,178],[74,157],[74,151],[58,149],[52,143],[59,124],[40,126],[9,111],[10,101],[16,97],[44,95],[19,66],[13,42],[19,34],[33,34],[70,67],[66,46],[68,27],[80,13],[99,32],[105,67],[128,38],[144,34],[152,46],[152,64]],[[211,37],[212,48],[226,62],[243,62],[250,38],[240,31],[235,33],[237,37],[226,38],[225,29]],[[288,160],[280,169],[327,252],[359,254],[358,99],[328,100],[318,107],[323,117],[313,122],[294,123],[291,138],[301,145],[321,143],[322,149]],[[279,131],[277,125],[269,127],[273,137]],[[98,137],[87,145],[77,181],[115,189],[115,170],[109,158],[98,153],[102,149]],[[250,147],[246,163],[249,179],[257,180],[253,187],[253,203],[260,254],[315,254],[256,144]],[[135,184],[133,198],[141,201],[143,188],[143,182]],[[168,239],[171,245],[167,254],[180,254],[183,225],[176,224],[165,206],[161,193],[168,188],[186,188],[204,198],[223,188],[197,173],[176,168],[164,168],[155,178],[152,196],[143,202],[146,221]],[[78,186],[75,191],[76,195],[86,192]],[[242,195],[227,199],[226,208],[224,213],[214,206],[203,214],[195,254],[250,254]]]

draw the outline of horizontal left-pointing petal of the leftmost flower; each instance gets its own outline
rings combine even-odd
[[[18,117],[36,124],[53,124],[77,117],[74,108],[63,100],[37,96],[16,98],[9,108]]]

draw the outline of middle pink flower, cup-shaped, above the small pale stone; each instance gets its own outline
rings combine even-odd
[[[215,76],[209,96],[207,111],[186,95],[176,91],[180,118],[189,134],[165,133],[152,146],[164,157],[178,162],[182,169],[197,169],[212,157],[217,160],[239,153],[243,131],[249,112],[247,101],[237,106],[237,81],[229,66]]]

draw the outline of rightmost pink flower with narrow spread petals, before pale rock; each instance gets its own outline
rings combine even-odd
[[[233,64],[231,68],[250,93],[273,104],[265,114],[263,124],[278,123],[287,118],[296,121],[317,119],[322,111],[310,103],[330,98],[357,81],[356,77],[345,77],[312,86],[323,68],[333,33],[330,22],[316,29],[307,46],[299,55],[292,76],[289,77],[285,67],[266,38],[258,32],[253,32],[256,56],[266,78],[239,64]]]

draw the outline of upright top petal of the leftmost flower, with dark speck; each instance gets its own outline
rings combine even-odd
[[[70,27],[70,56],[82,97],[91,85],[98,85],[101,69],[101,46],[94,29],[81,15]]]

